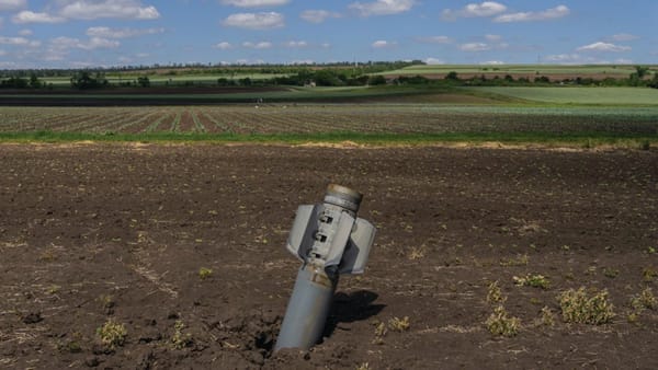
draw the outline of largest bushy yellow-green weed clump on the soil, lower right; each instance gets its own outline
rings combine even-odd
[[[602,290],[589,297],[585,287],[563,291],[558,297],[563,320],[567,323],[600,325],[612,321],[614,307]]]

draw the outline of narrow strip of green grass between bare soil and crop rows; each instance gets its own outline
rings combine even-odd
[[[619,135],[605,132],[442,132],[442,134],[362,134],[362,132],[317,132],[317,134],[84,134],[84,132],[0,132],[0,142],[154,142],[154,143],[341,143],[345,141],[365,146],[427,146],[435,143],[485,143],[542,144],[547,147],[568,146],[595,148],[613,146],[644,149],[658,146],[657,136]]]

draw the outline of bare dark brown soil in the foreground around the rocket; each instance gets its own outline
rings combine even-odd
[[[0,368],[658,368],[657,312],[628,320],[658,279],[655,151],[2,144],[0,173]],[[287,230],[328,183],[365,194],[368,268],[321,344],[272,354]],[[485,325],[496,280],[517,336]],[[581,286],[608,289],[611,323],[563,322]]]

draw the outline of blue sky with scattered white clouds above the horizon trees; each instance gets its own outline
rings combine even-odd
[[[0,69],[658,63],[657,0],[0,0]]]

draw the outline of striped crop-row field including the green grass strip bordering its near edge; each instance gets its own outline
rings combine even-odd
[[[440,142],[649,148],[658,107],[412,103],[0,107],[2,141]]]

